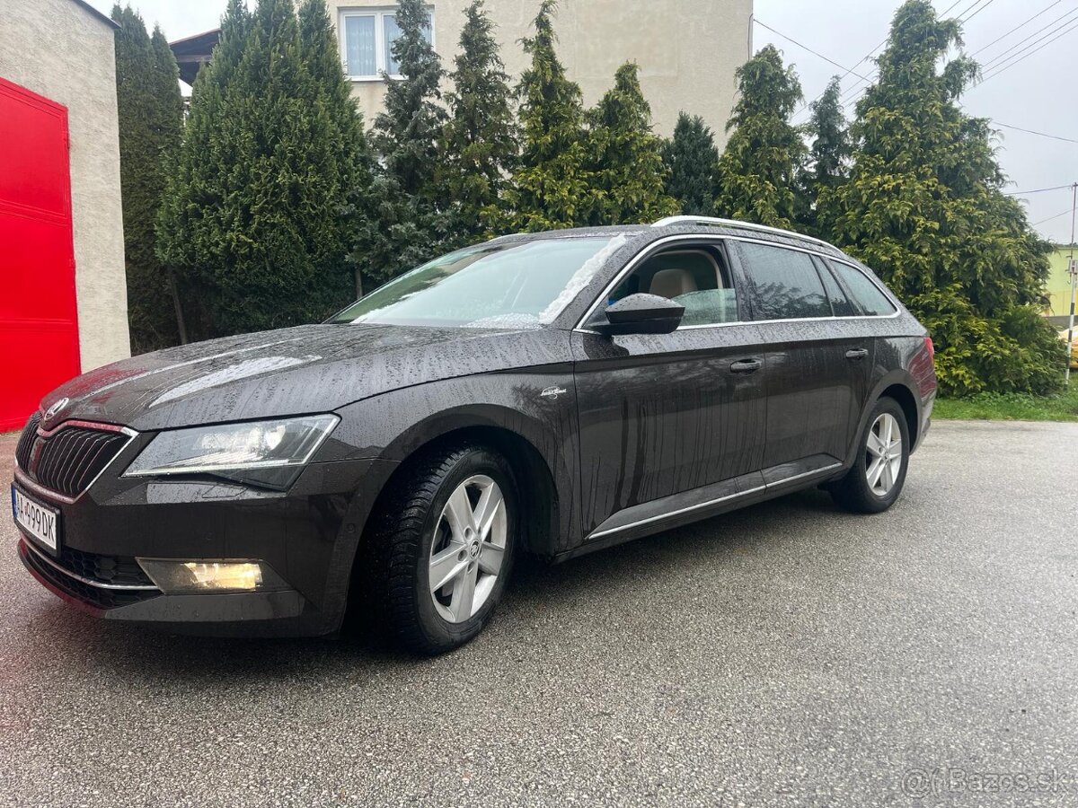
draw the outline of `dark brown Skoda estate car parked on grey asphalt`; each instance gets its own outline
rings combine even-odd
[[[823,241],[717,219],[498,238],[329,322],[101,367],[16,448],[18,554],[110,621],[474,637],[561,561],[823,486],[889,507],[925,329]]]

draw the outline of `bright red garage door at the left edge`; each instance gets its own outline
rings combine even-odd
[[[0,79],[0,432],[79,374],[67,109]]]

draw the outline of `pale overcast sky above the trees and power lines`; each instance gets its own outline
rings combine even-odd
[[[111,1],[89,1],[106,13],[112,8]],[[225,0],[133,0],[132,4],[148,25],[160,23],[168,39],[176,40],[216,28]],[[772,42],[782,50],[797,67],[806,100],[818,96],[832,75],[853,69],[843,81],[843,88],[849,92],[852,113],[857,88],[865,86],[857,74],[871,78],[875,67],[869,60],[857,62],[887,36],[898,4],[899,0],[756,0],[756,17],[761,24],[792,37],[841,68],[762,25],[754,26],[754,45],[761,47]],[[1001,126],[1009,124],[1078,141],[1078,0],[935,0],[935,5],[966,20],[965,50],[984,66],[984,80],[966,94],[963,102],[971,114],[1000,125],[999,161],[1012,180],[1011,190],[1031,191],[1078,181],[1078,142]],[[805,110],[796,121],[801,122],[807,114]],[[1023,198],[1031,221],[1042,222],[1037,229],[1059,242],[1070,240],[1069,190]]]

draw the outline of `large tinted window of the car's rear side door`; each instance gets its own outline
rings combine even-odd
[[[830,317],[824,283],[812,256],[797,250],[738,243],[745,273],[756,288],[757,320]]]

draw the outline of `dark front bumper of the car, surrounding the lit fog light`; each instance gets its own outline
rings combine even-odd
[[[58,509],[63,524],[57,556],[22,532],[17,552],[45,588],[102,619],[211,636],[333,633],[363,525],[393,468],[379,460],[313,463],[287,492],[106,474],[74,501],[30,488],[16,471],[15,483]],[[139,580],[138,557],[259,559],[287,588],[165,594],[148,576]],[[96,574],[95,562],[110,574]],[[115,569],[125,572],[113,579]]]

